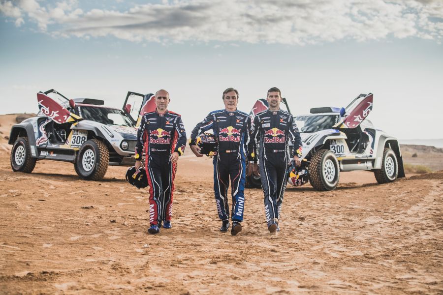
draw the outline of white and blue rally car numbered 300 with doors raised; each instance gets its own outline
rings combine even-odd
[[[301,186],[309,180],[316,190],[333,190],[340,172],[354,170],[373,171],[378,183],[405,177],[398,140],[367,119],[373,97],[372,93],[360,94],[346,108],[313,108],[310,114],[294,116],[303,151],[301,167],[288,170],[290,184]],[[286,100],[283,102],[289,111]],[[267,107],[265,99],[258,100],[251,117]],[[260,178],[248,177],[246,185],[260,187]]]

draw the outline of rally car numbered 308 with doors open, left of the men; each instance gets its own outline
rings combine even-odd
[[[38,92],[39,112],[12,127],[13,171],[31,173],[38,160],[74,164],[86,180],[100,180],[108,165],[132,166],[141,116],[155,109],[154,94],[127,92],[122,109],[103,100],[68,99],[54,89]]]

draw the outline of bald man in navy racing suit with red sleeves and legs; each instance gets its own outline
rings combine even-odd
[[[145,169],[149,183],[148,232],[157,234],[161,221],[163,228],[170,229],[172,217],[172,195],[177,161],[185,151],[186,133],[179,114],[168,111],[169,93],[156,92],[156,110],[143,115],[137,131],[135,167],[143,167],[141,159],[145,150]]]

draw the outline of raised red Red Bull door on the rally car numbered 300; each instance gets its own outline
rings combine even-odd
[[[334,128],[356,128],[372,111],[374,94],[358,95],[346,108],[344,118]]]

